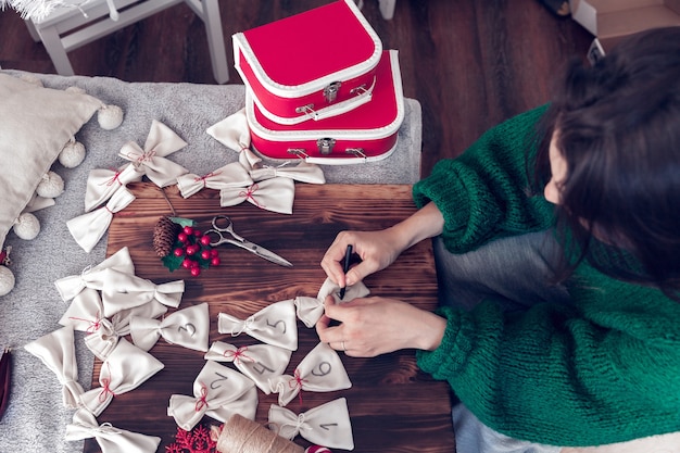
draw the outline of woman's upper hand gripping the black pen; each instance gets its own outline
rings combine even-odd
[[[362,261],[345,275],[342,264],[350,244]],[[403,250],[392,228],[379,231],[341,231],[326,251],[322,267],[342,288],[355,285],[366,276],[386,268]]]

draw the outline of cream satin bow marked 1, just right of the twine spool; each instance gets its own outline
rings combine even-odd
[[[279,436],[289,440],[300,435],[317,445],[354,450],[350,411],[344,398],[322,404],[299,415],[272,404],[269,426],[276,429]]]

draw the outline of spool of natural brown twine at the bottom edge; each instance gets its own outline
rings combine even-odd
[[[217,439],[221,453],[304,453],[297,443],[280,437],[256,421],[234,414]]]

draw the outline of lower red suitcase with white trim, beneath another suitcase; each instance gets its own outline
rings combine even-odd
[[[404,119],[399,56],[382,52],[376,70],[373,100],[343,115],[293,125],[273,122],[245,90],[245,115],[253,149],[265,158],[294,156],[319,164],[350,164],[378,161],[396,146]]]

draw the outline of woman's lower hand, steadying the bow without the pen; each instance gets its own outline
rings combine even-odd
[[[330,326],[330,320],[341,324]],[[320,341],[356,357],[373,357],[400,349],[437,349],[446,319],[406,302],[386,298],[362,298],[335,304],[325,301],[325,314],[316,324]]]

